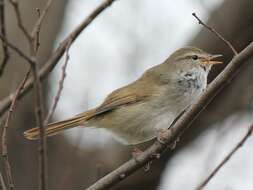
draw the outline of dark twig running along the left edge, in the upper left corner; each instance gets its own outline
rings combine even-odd
[[[4,0],[0,0],[0,32],[1,35],[6,38],[6,26],[5,26],[5,3]],[[8,46],[6,45],[5,41],[2,40],[2,49],[3,49],[3,60],[2,63],[0,64],[0,77],[2,76],[4,72],[4,68],[8,63],[10,54],[8,50]]]

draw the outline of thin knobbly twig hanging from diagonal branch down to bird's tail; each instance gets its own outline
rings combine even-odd
[[[68,60],[69,60],[69,48],[70,48],[70,45],[71,43],[69,43],[69,45],[67,46],[67,49],[66,49],[66,57],[65,57],[65,62],[62,66],[62,72],[61,72],[61,76],[60,76],[60,80],[59,80],[59,85],[58,85],[58,89],[57,89],[57,93],[54,97],[54,102],[53,102],[53,105],[51,107],[51,109],[49,110],[47,116],[46,116],[46,119],[44,121],[44,124],[46,125],[49,120],[51,119],[52,115],[54,114],[55,112],[55,109],[57,107],[57,104],[59,102],[59,99],[61,97],[61,93],[62,93],[62,90],[63,90],[63,83],[64,83],[64,79],[66,77],[66,68],[67,68],[67,64],[68,64]]]

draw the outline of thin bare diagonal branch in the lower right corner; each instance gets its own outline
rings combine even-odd
[[[196,190],[203,189],[208,182],[215,176],[215,174],[230,160],[230,158],[241,148],[247,139],[250,137],[253,131],[253,124],[248,128],[247,133],[243,138],[236,144],[236,146],[223,158],[223,160],[214,168],[214,170],[200,183]]]

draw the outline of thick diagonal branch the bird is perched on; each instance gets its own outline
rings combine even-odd
[[[200,97],[199,101],[194,104],[182,117],[178,119],[175,125],[163,134],[164,142],[156,140],[146,151],[137,156],[136,159],[131,159],[121,165],[116,170],[107,174],[105,177],[98,180],[91,185],[87,190],[101,190],[108,189],[114,184],[134,173],[139,168],[143,167],[148,162],[158,159],[168,145],[173,144],[179,136],[190,126],[190,124],[197,118],[202,110],[211,102],[211,100],[230,83],[234,78],[238,69],[246,63],[246,61],[253,55],[253,43],[250,43],[243,51],[236,55],[226,68],[216,77],[216,79],[209,85],[206,92]],[[158,155],[158,156],[157,156]]]

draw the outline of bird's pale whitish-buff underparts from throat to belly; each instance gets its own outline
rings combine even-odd
[[[206,88],[206,72],[180,73],[177,85],[164,88],[163,96],[147,104],[129,105],[115,110],[124,119],[115,126],[105,127],[123,144],[139,144],[157,136],[159,129],[169,128],[177,116],[194,103]],[[176,86],[176,88],[174,88]],[[116,118],[115,118],[116,119]]]

